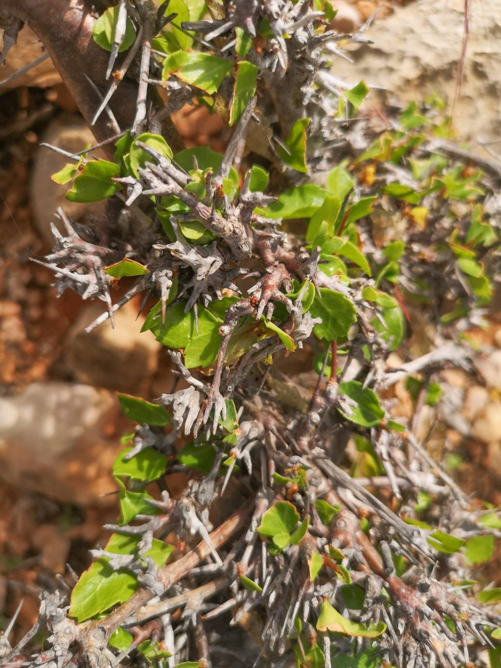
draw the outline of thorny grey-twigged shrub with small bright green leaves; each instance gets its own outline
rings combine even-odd
[[[59,210],[42,264],[59,293],[104,301],[88,329],[157,295],[142,329],[181,382],[153,403],[119,395],[136,423],[113,470],[120,520],[71,595],[43,595],[7,665],[210,666],[224,614],[252,624],[255,665],[277,667],[481,665],[500,636],[478,607],[499,590],[476,601],[468,568],[500,520],[393,419],[389,389],[407,378],[437,403],[437,372],[468,368],[462,332],[482,322],[499,260],[500,174],[444,139],[436,103],[382,132],[357,120],[367,87],[343,86],[332,60],[368,26],[339,35],[332,18],[322,0],[120,0],[95,21],[110,55],[92,122],[108,114],[113,159],[86,148],[53,179],[107,208],[88,226]],[[110,105],[132,82],[120,127]],[[224,155],[182,148],[170,114],[188,102],[230,126]],[[411,307],[435,345],[390,369]],[[287,376],[298,356],[316,373],[307,400]],[[177,497],[172,472],[188,477]]]

